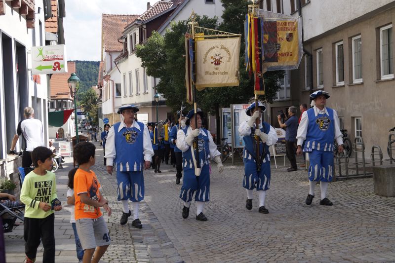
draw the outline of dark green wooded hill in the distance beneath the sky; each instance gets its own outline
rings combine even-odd
[[[75,60],[76,73],[79,79],[79,93],[85,93],[92,86],[97,85],[99,75],[99,61]]]

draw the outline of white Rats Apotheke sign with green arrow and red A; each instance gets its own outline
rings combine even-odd
[[[33,46],[33,74],[67,73],[65,45]]]

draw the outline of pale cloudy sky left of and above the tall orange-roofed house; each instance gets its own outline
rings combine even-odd
[[[101,58],[102,14],[140,15],[150,0],[66,0],[63,19],[68,60]],[[151,5],[158,0],[151,0]]]

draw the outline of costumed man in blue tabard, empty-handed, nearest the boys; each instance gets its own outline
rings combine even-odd
[[[118,109],[121,121],[114,124],[106,143],[107,172],[112,174],[115,166],[118,182],[118,201],[122,202],[123,214],[120,224],[125,225],[132,214],[128,200],[133,204],[132,225],[142,228],[139,220],[139,205],[144,199],[143,170],[150,168],[152,150],[150,132],[142,122],[134,120],[139,111],[134,105],[122,105]]]

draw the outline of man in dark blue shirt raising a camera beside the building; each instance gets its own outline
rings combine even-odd
[[[298,165],[296,164],[296,134],[298,132],[298,119],[296,117],[296,107],[291,106],[288,109],[289,118],[285,123],[281,122],[281,116],[278,115],[278,124],[281,128],[286,128],[285,130],[285,147],[286,154],[289,162],[291,163],[291,167],[287,169],[288,172],[293,172],[298,170]]]

